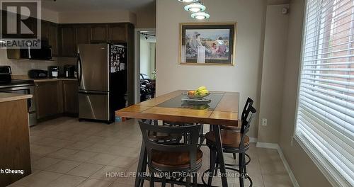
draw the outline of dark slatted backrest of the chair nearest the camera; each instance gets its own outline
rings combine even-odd
[[[158,126],[150,125],[139,121],[140,130],[142,131],[142,138],[147,148],[147,161],[151,165],[152,162],[152,151],[161,152],[189,152],[190,156],[190,169],[195,169],[197,167],[197,152],[198,152],[198,138],[200,132],[200,125],[190,125],[190,126]],[[162,144],[161,142],[156,142],[149,138],[149,133],[166,133],[173,135],[185,135],[186,139],[181,140],[181,142],[176,144]]]

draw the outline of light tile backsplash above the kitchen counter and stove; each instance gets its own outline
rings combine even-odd
[[[76,64],[76,58],[53,57],[53,60],[11,60],[7,58],[6,50],[0,49],[0,65],[11,66],[12,74],[28,74],[30,69],[47,70],[49,66],[62,67],[65,64]]]

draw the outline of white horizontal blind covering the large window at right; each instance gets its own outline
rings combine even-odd
[[[333,186],[354,186],[354,0],[307,0],[303,33],[295,137]]]

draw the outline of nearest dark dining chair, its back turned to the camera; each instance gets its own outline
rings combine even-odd
[[[166,179],[171,176],[185,176],[185,186],[197,186],[196,172],[202,166],[202,151],[198,148],[200,125],[161,126],[139,122],[140,130],[147,151],[147,166],[150,171],[150,186],[154,187],[155,174],[161,176],[161,186],[166,186]],[[164,144],[149,137],[150,132],[174,135],[186,135],[180,142]],[[162,174],[162,175],[161,175]]]

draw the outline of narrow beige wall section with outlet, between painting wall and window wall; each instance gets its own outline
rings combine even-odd
[[[265,38],[261,81],[259,118],[268,125],[259,125],[258,142],[278,143],[282,116],[282,89],[287,48],[288,14],[282,8],[288,5],[268,5],[265,21]]]

